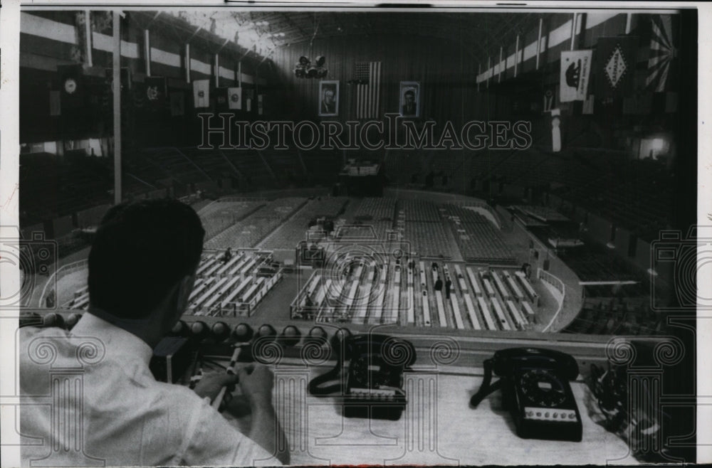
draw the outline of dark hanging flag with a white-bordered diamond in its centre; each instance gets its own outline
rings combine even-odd
[[[596,48],[596,97],[630,97],[635,80],[637,36],[603,37]]]

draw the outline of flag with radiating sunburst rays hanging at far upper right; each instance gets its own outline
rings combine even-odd
[[[669,75],[677,57],[672,18],[670,15],[652,16],[651,26],[649,74],[646,85],[655,92],[663,92],[670,87]]]

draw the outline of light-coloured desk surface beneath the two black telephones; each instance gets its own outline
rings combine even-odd
[[[408,405],[398,421],[345,418],[335,398],[308,395],[311,373],[275,370],[275,407],[291,464],[614,464],[636,463],[625,442],[590,417],[590,391],[572,383],[583,420],[582,442],[525,440],[496,392],[473,409],[480,376],[419,371],[406,375]],[[412,387],[409,387],[412,385]],[[594,403],[595,405],[595,403]],[[249,427],[249,417],[236,423]]]

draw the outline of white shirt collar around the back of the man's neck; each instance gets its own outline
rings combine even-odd
[[[153,350],[135,334],[100,319],[91,312],[85,312],[82,319],[73,327],[73,336],[95,336],[113,356],[129,356],[150,363]]]

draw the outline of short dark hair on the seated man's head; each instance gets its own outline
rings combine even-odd
[[[197,213],[179,201],[110,208],[89,253],[90,303],[116,317],[145,317],[194,272],[204,235]]]

